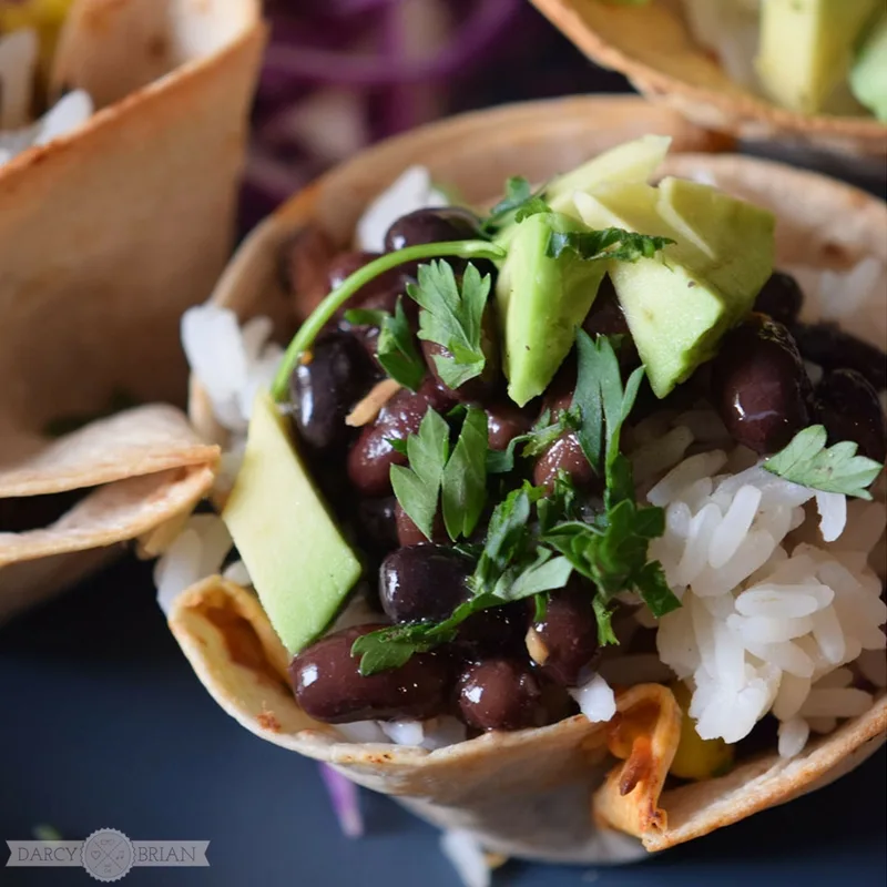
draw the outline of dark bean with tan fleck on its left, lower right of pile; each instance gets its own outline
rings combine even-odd
[[[549,594],[544,619],[533,623],[530,655],[542,674],[561,686],[579,686],[591,677],[599,651],[598,620],[590,582],[573,578]]]

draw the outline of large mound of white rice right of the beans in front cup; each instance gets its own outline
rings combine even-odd
[[[793,756],[812,728],[807,717],[850,717],[871,704],[861,690],[818,682],[863,650],[885,649],[878,625],[887,606],[867,564],[885,510],[848,508],[844,496],[815,493],[759,465],[714,473],[727,462],[720,450],[691,456],[650,489],[666,513],[650,554],[683,603],[660,620],[657,649],[690,683],[703,738],[737,742],[772,711],[782,722],[779,753]],[[850,537],[852,528],[860,532]],[[847,675],[840,670],[842,681]]]

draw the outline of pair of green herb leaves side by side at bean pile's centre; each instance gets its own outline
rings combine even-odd
[[[451,451],[450,427],[430,407],[417,434],[390,442],[409,461],[408,468],[391,466],[395,496],[426,539],[431,539],[438,503],[450,539],[469,537],[487,503],[487,414],[468,407]]]

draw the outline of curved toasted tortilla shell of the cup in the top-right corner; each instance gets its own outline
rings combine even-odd
[[[731,80],[695,42],[674,0],[532,0],[590,59],[625,74],[649,99],[700,126],[750,140],[795,142],[883,161],[887,125],[866,116],[809,116]]]

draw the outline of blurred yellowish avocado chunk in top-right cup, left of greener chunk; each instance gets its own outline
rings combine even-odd
[[[820,112],[879,1],[762,0],[756,68],[765,93],[791,111]]]

